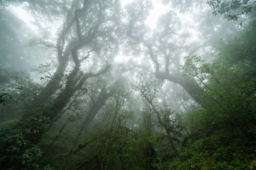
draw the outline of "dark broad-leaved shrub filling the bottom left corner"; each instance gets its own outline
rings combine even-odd
[[[19,129],[3,127],[0,129],[0,167],[2,170],[37,169],[37,161],[42,156],[35,144],[50,126],[43,116],[27,119]]]

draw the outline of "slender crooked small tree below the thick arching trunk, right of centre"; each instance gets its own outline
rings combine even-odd
[[[177,150],[182,147],[183,138],[187,135],[187,130],[183,122],[183,114],[179,111],[180,105],[176,106],[177,108],[175,110],[172,110],[170,109],[171,106],[166,103],[158,102],[162,101],[159,96],[160,89],[161,86],[159,86],[159,80],[154,77],[141,77],[140,84],[137,86],[137,90],[139,90],[142,97],[147,102],[145,114],[150,114],[149,116],[151,118],[148,121],[146,120],[145,123],[150,124],[150,121],[153,122],[153,118],[155,117],[155,122],[157,122],[160,128],[164,129],[164,134],[168,141],[165,150],[168,150],[169,152],[166,152],[165,154],[174,156],[177,153]],[[153,128],[147,128],[146,130],[148,133],[158,133],[159,131],[157,128],[155,128],[155,130]]]

